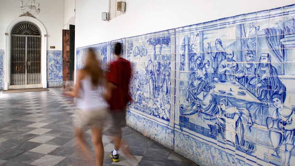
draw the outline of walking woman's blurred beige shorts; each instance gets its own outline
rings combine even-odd
[[[110,117],[111,115],[106,108],[87,111],[76,108],[73,125],[77,128],[84,128],[86,126],[103,128],[106,123],[110,122]]]

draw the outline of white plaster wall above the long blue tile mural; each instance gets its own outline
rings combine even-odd
[[[126,0],[126,12],[102,21],[109,0],[76,0],[75,47],[294,4],[294,0]]]

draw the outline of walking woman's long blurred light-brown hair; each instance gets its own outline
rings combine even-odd
[[[98,86],[101,83],[101,79],[104,78],[100,66],[100,62],[97,60],[93,49],[89,48],[83,71],[91,77],[91,82],[94,86]]]

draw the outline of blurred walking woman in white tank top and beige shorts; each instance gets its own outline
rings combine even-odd
[[[84,68],[77,72],[75,90],[65,95],[76,97],[76,117],[73,120],[75,137],[80,150],[86,159],[92,161],[89,148],[83,140],[83,128],[91,127],[92,141],[95,149],[96,166],[102,166],[104,147],[102,144],[102,128],[108,117],[108,105],[104,99],[106,81],[103,77],[100,62],[95,53],[89,49]]]

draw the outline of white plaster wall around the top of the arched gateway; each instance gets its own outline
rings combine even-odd
[[[27,1],[24,0],[24,4]],[[34,16],[47,30],[47,50],[62,50],[62,30],[64,21],[64,0],[36,0],[40,4],[40,14]],[[19,0],[0,0],[0,49],[5,49],[6,29],[12,20],[23,14],[19,10]],[[26,12],[29,11],[26,9]],[[29,19],[29,17],[28,17]],[[55,46],[55,49],[50,49]]]

